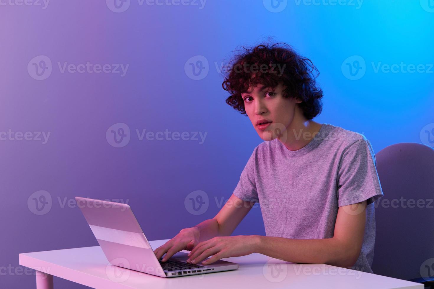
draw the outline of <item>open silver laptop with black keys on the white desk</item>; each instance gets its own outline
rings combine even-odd
[[[191,264],[186,262],[188,256],[184,252],[161,262],[163,257],[158,260],[155,256],[128,204],[75,199],[105,257],[114,266],[168,278],[236,270],[240,266],[224,260],[208,265]]]

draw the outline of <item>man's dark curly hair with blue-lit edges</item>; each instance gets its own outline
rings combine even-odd
[[[317,71],[313,63],[300,56],[290,45],[279,42],[273,45],[263,43],[254,48],[241,50],[229,62],[223,81],[223,89],[229,91],[226,103],[235,110],[246,114],[241,93],[247,92],[250,85],[263,84],[275,88],[283,82],[284,97],[296,97],[302,102],[299,107],[307,120],[312,120],[322,111],[322,90],[317,87],[312,71]],[[242,67],[251,69],[240,69]],[[279,69],[276,69],[276,66]],[[258,69],[258,68],[264,69]],[[256,72],[253,68],[256,68]],[[266,69],[265,69],[266,68]],[[311,69],[309,69],[311,68]],[[247,114],[246,114],[247,116]]]

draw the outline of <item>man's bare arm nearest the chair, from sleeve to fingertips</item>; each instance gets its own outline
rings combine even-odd
[[[189,254],[192,263],[211,264],[221,258],[261,253],[293,263],[351,267],[362,250],[366,201],[341,206],[335,231],[328,239],[289,239],[259,235],[214,237],[201,242]],[[187,262],[190,262],[190,259]]]

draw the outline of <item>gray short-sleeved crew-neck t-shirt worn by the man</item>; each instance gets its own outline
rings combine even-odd
[[[323,123],[295,151],[277,139],[264,141],[253,150],[233,194],[259,203],[266,236],[290,239],[331,238],[338,207],[368,200],[362,251],[351,269],[373,273],[373,202],[383,192],[374,151],[363,134]]]

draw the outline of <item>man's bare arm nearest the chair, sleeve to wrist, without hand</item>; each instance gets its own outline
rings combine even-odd
[[[334,236],[328,239],[288,239],[257,236],[255,252],[293,263],[351,267],[362,250],[366,201],[339,207]]]

